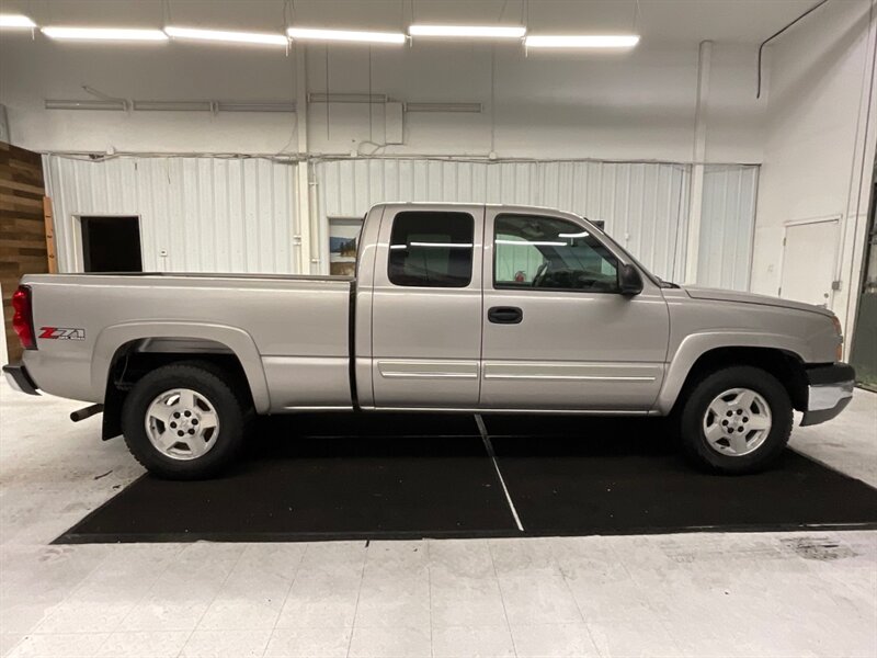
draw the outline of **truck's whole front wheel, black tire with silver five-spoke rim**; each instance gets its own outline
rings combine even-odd
[[[776,377],[752,366],[726,367],[688,390],[680,416],[682,449],[711,470],[756,473],[779,457],[791,421],[791,401]]]

